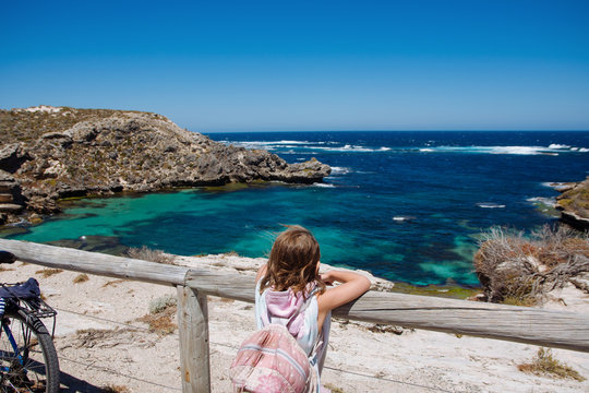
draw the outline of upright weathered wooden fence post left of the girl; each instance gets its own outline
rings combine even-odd
[[[211,392],[206,295],[178,287],[178,331],[183,393]]]

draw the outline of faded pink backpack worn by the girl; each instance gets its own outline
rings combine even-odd
[[[288,329],[268,324],[248,337],[229,370],[235,392],[316,392],[316,374]]]

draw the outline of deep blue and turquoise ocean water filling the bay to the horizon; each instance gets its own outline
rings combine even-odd
[[[589,175],[589,132],[251,132],[208,136],[315,157],[324,183],[184,189],[85,199],[10,235],[53,241],[100,235],[177,254],[264,257],[281,224],[311,229],[322,260],[417,285],[477,285],[472,257],[492,226],[556,222],[551,182]],[[0,234],[1,236],[1,234]],[[7,236],[7,235],[4,235]]]

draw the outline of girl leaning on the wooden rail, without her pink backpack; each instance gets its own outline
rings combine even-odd
[[[285,325],[309,356],[317,376],[325,361],[330,312],[365,293],[363,275],[329,271],[318,275],[320,246],[303,227],[289,226],[275,240],[268,262],[257,271],[255,320],[257,329]],[[340,285],[326,289],[334,282]]]

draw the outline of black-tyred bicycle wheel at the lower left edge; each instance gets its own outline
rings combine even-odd
[[[51,335],[37,318],[27,322],[21,310],[7,311],[2,318],[0,389],[2,393],[59,392],[59,360]]]

